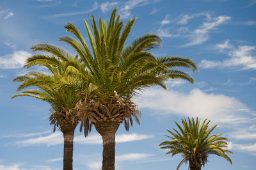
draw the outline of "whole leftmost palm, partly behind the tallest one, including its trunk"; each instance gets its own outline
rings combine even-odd
[[[79,115],[74,107],[80,97],[77,96],[75,88],[58,88],[56,82],[73,82],[74,79],[68,75],[68,70],[65,69],[65,66],[67,65],[67,62],[77,63],[78,61],[77,58],[73,58],[70,54],[65,52],[65,50],[53,45],[40,44],[35,45],[32,49],[50,52],[55,56],[62,56],[62,59],[60,60],[54,56],[41,54],[28,58],[26,61],[26,66],[28,68],[36,64],[32,61],[32,59],[36,58],[38,61],[41,61],[41,64],[47,66],[51,73],[33,71],[15,77],[13,81],[22,82],[17,91],[29,87],[36,87],[37,89],[22,91],[21,94],[15,95],[12,98],[28,96],[38,98],[51,104],[51,116],[49,117],[49,120],[51,121],[50,124],[54,125],[53,132],[55,132],[56,128],[60,128],[61,132],[63,132],[63,169],[70,170],[72,169],[73,160],[74,130],[79,123]],[[49,65],[49,63],[51,63],[51,65]],[[84,130],[85,136],[92,127],[90,122],[86,123],[88,128]]]

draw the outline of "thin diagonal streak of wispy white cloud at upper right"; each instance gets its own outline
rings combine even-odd
[[[207,22],[203,22],[201,26],[199,26],[188,35],[191,41],[184,45],[184,47],[198,45],[206,42],[207,40],[209,40],[209,32],[212,29],[216,29],[217,26],[220,26],[220,24],[224,24],[225,22],[227,22],[227,20],[230,19],[231,17],[228,16],[219,16],[215,18],[210,18]]]

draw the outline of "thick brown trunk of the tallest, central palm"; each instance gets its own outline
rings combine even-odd
[[[102,121],[94,124],[102,137],[102,170],[115,170],[115,135],[120,123],[116,121]]]

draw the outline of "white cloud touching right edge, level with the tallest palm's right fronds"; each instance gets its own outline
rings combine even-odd
[[[226,40],[222,44],[216,45],[217,49],[221,52],[228,54],[230,58],[224,59],[223,61],[209,61],[202,60],[199,66],[202,68],[234,68],[239,67],[243,70],[256,69],[256,46],[243,45],[234,47]]]

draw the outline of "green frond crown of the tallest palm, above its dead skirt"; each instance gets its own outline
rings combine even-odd
[[[65,28],[73,33],[78,40],[70,36],[63,36],[61,41],[70,44],[85,65],[77,68],[77,72],[86,74],[86,79],[81,80],[86,84],[83,89],[97,100],[107,102],[111,97],[131,98],[138,91],[151,86],[159,85],[166,88],[164,81],[167,79],[186,79],[193,82],[193,78],[186,72],[175,70],[181,66],[197,70],[195,63],[189,58],[162,57],[155,58],[148,50],[161,45],[161,38],[153,33],[140,36],[130,45],[125,46],[136,19],[130,19],[124,27],[120,16],[116,17],[116,8],[111,14],[108,26],[106,21],[99,18],[99,28],[95,19],[89,16],[92,31],[84,20],[84,26],[90,40],[89,50],[87,43],[79,30],[68,23]],[[123,29],[124,27],[124,29]],[[81,70],[83,69],[83,70]],[[84,88],[84,86],[83,86]]]

